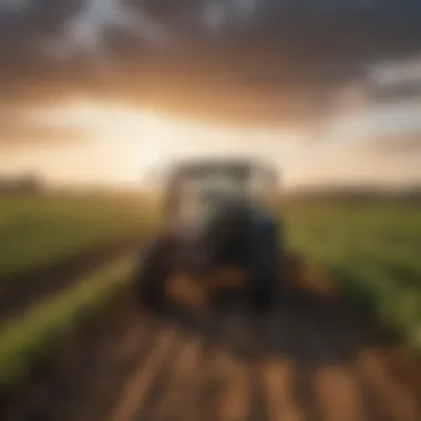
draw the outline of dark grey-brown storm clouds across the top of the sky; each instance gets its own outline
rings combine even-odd
[[[311,124],[330,92],[363,78],[368,64],[419,50],[418,0],[21,0],[0,8],[3,97],[86,92],[233,124]]]

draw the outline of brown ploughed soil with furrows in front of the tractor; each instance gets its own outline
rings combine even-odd
[[[327,284],[326,284],[327,285]],[[324,280],[267,315],[141,309],[131,291],[52,350],[4,421],[419,421],[421,362]]]

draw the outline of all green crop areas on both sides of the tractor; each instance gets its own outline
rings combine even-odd
[[[141,198],[2,198],[0,209],[0,244],[8,245],[0,255],[2,273],[53,261],[63,250],[141,234],[156,222],[156,213]],[[370,308],[384,327],[421,351],[420,208],[309,203],[287,205],[284,214],[288,246],[325,268],[361,309]],[[28,361],[69,329],[69,320],[78,322],[105,305],[131,265],[127,260],[82,279],[3,326],[0,383],[19,379]]]

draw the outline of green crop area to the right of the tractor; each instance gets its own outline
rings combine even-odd
[[[339,289],[421,351],[420,206],[290,206],[289,245],[327,268]]]

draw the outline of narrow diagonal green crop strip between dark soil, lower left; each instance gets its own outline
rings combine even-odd
[[[11,390],[60,337],[103,308],[126,281],[133,257],[82,277],[65,292],[40,302],[0,331],[0,392]]]

